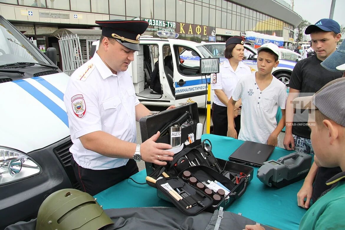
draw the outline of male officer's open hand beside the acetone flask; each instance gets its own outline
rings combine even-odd
[[[165,151],[164,149],[171,149],[170,144],[156,143],[159,138],[159,131],[151,138],[147,139],[140,146],[141,158],[145,162],[150,162],[158,165],[166,165],[165,161],[172,161],[173,152]],[[164,156],[169,155],[169,156]]]

